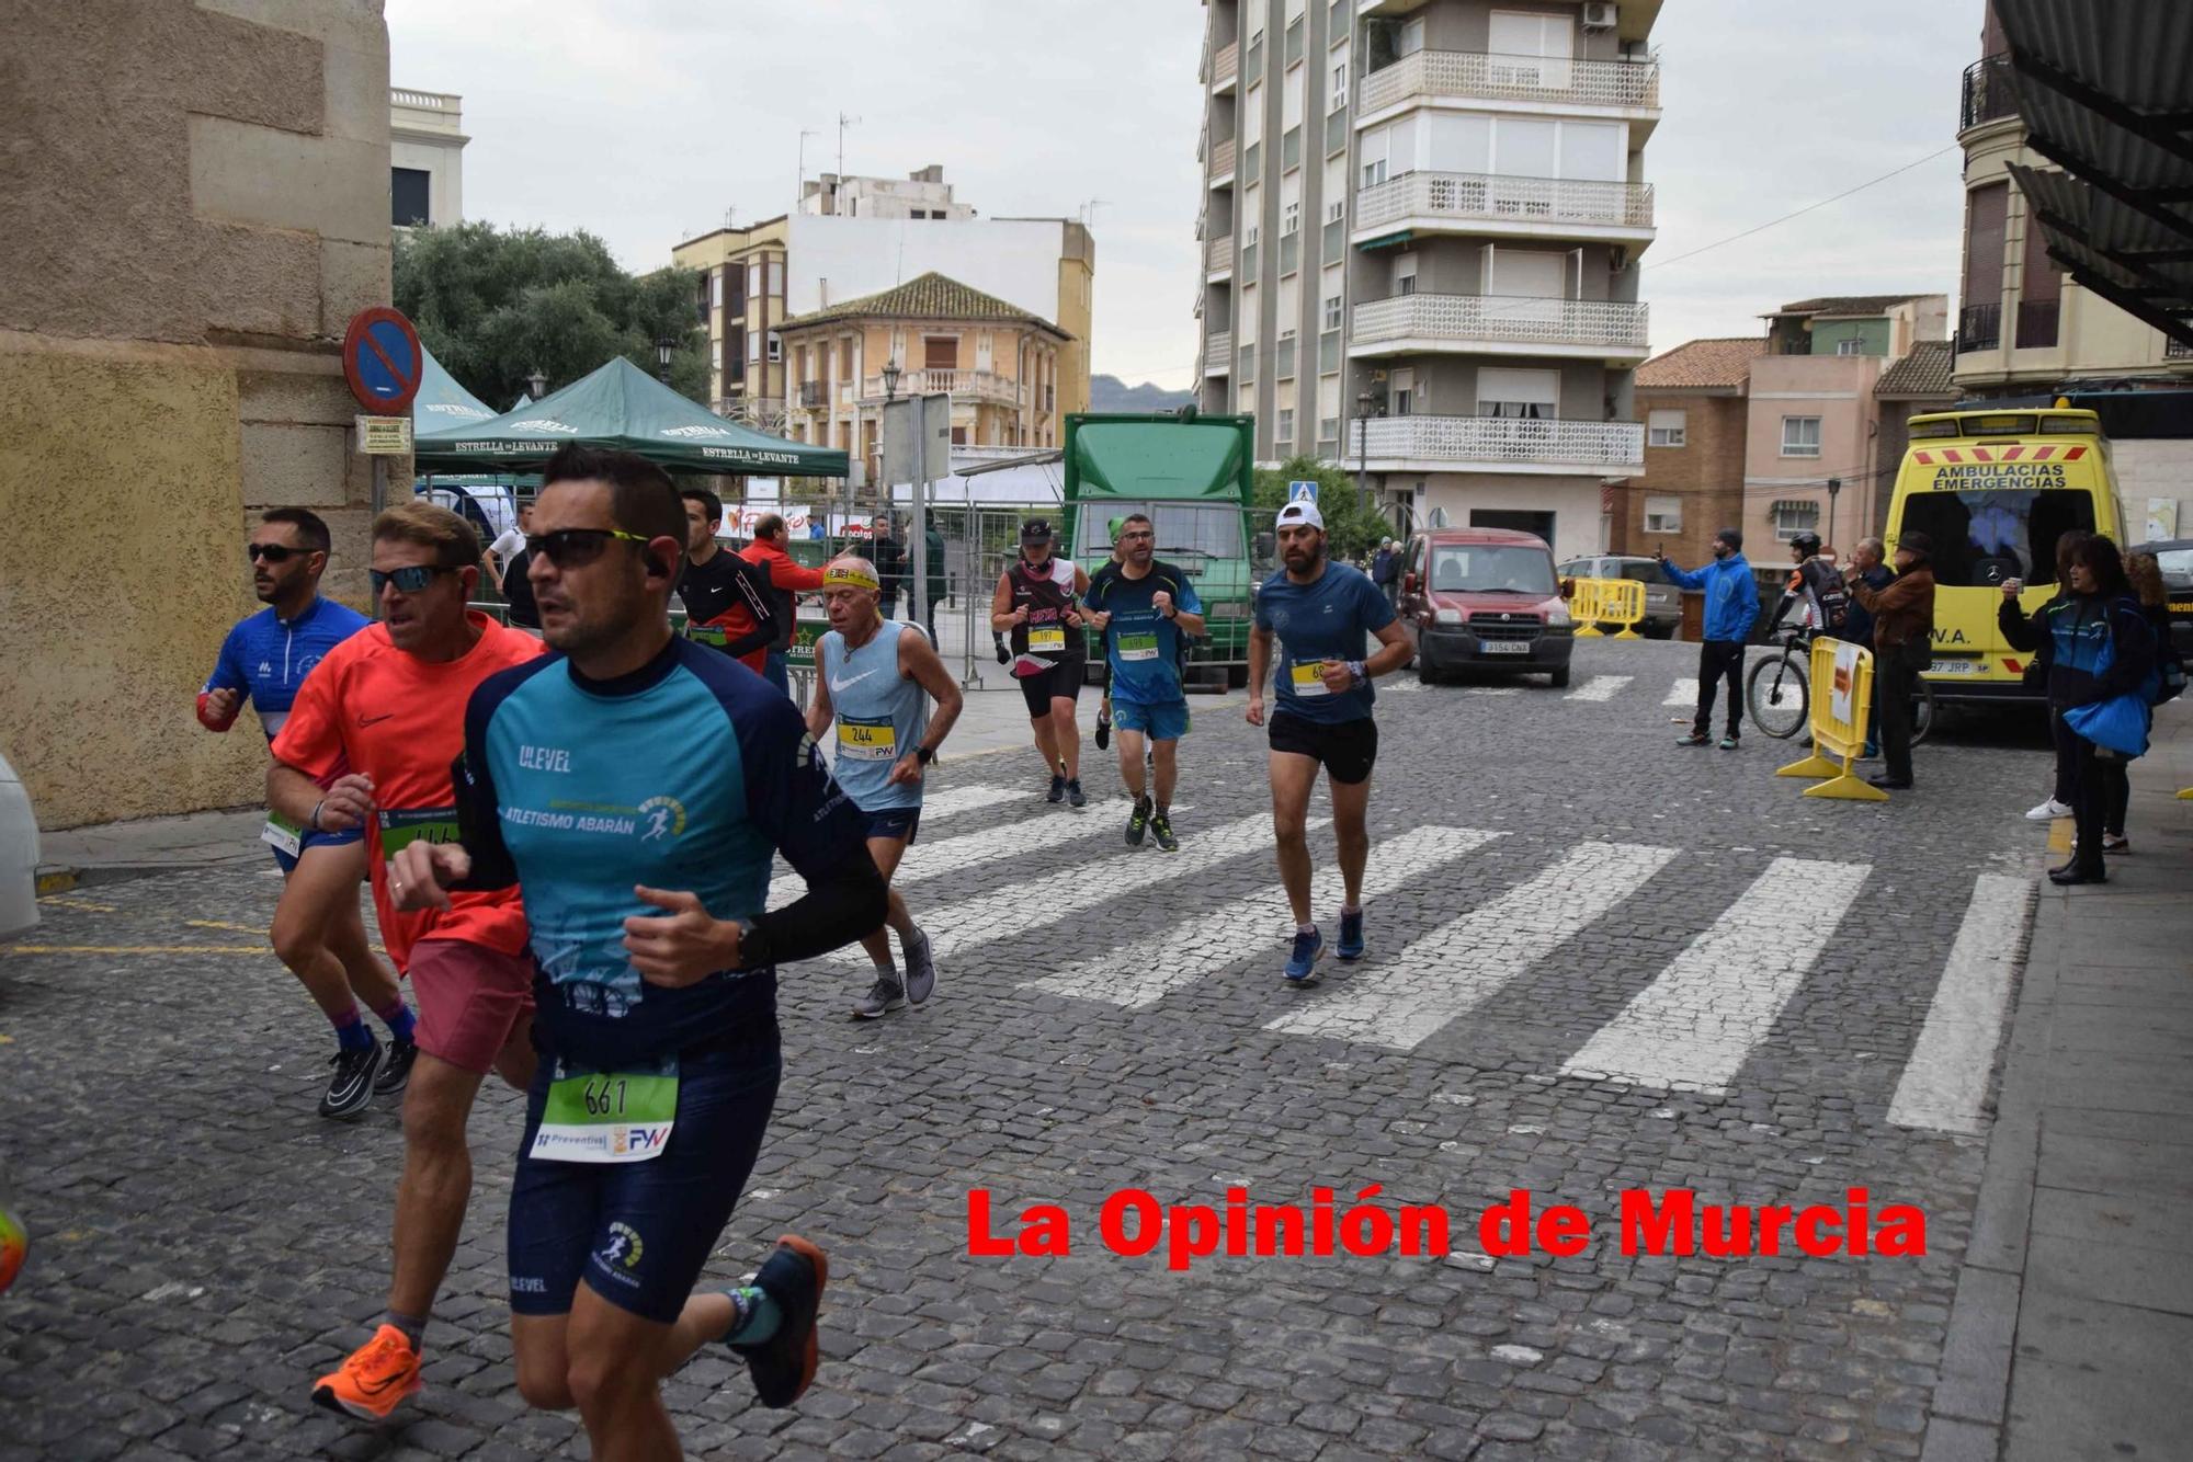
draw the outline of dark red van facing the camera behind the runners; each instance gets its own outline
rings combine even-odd
[[[1428,528],[1404,548],[1395,609],[1425,684],[1450,671],[1548,675],[1568,684],[1575,625],[1553,550],[1511,528]]]

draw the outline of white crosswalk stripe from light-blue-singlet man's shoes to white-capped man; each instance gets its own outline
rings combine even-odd
[[[1309,829],[1316,831],[1327,822],[1331,818],[1311,818]],[[1035,861],[1048,859],[1048,848],[1039,844],[1029,846],[1026,853]],[[1121,848],[1121,853],[1101,861],[1057,868],[941,910],[923,910],[919,923],[928,932],[936,958],[1004,938],[1035,947],[1042,943],[1042,929],[1050,923],[1151,883],[1184,881],[1204,868],[1241,857],[1243,853],[1263,853],[1270,857],[1272,813],[1250,813],[1248,818],[1202,833],[1186,831],[1180,837],[1180,853]],[[838,964],[851,964],[866,956],[853,949],[851,956],[838,951],[827,958]]]

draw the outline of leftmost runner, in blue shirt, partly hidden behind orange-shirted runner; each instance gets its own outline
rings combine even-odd
[[[252,559],[252,592],[268,607],[239,620],[221,642],[221,658],[197,693],[200,726],[226,732],[250,699],[272,745],[305,675],[371,625],[357,609],[320,598],[331,544],[327,524],[309,509],[261,513],[246,552]],[[375,1096],[404,1089],[419,1054],[414,1019],[395,971],[373,953],[357,914],[357,883],[366,877],[364,835],[357,829],[303,829],[274,813],[259,837],[272,844],[285,879],[268,932],[274,953],[336,1028],[336,1074],[320,1094],[320,1116],[357,1118]],[[366,1030],[360,1002],[388,1026],[388,1046]]]

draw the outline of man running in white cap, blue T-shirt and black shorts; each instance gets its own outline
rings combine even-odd
[[[1311,982],[1325,958],[1325,936],[1309,916],[1309,793],[1325,767],[1333,793],[1333,835],[1340,842],[1340,958],[1364,953],[1364,864],[1371,857],[1371,767],[1377,763],[1377,723],[1371,719],[1371,679],[1399,671],[1408,640],[1393,605],[1362,570],[1325,555],[1325,515],[1309,502],[1279,511],[1279,552],[1285,568],[1257,592],[1257,623],[1248,636],[1248,723],[1263,726],[1263,673],[1279,642],[1279,708],[1272,712],[1272,833],[1279,839],[1279,879],[1294,910],[1294,949],[1287,980]],[[1364,660],[1364,636],[1379,649]]]

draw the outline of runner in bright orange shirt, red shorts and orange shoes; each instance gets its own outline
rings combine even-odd
[[[311,673],[274,739],[268,774],[276,813],[311,831],[364,824],[382,938],[419,1000],[388,1315],[311,1392],[331,1412],[371,1420],[419,1390],[419,1341],[471,1195],[465,1122],[480,1081],[489,1070],[515,1087],[533,1078],[533,973],[518,958],[526,945],[518,890],[397,912],[390,894],[399,890],[386,870],[404,844],[456,835],[450,763],[465,743],[465,697],[502,666],[542,653],[522,629],[465,609],[478,581],[480,539],[456,513],[406,502],[375,517],[382,623],[338,644]]]

